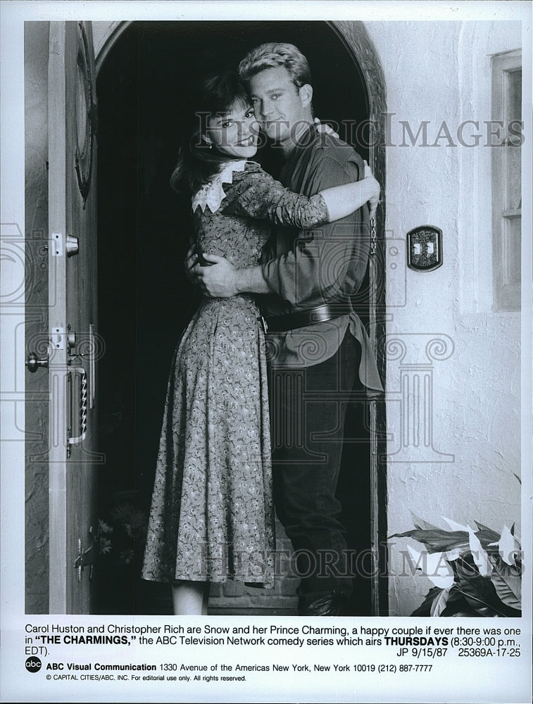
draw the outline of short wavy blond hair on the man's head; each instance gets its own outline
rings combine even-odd
[[[296,88],[311,83],[311,70],[306,57],[294,44],[280,42],[268,42],[251,49],[239,63],[239,74],[242,80],[248,82],[252,76],[266,68],[277,66],[287,69]]]

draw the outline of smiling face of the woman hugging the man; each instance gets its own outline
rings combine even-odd
[[[249,159],[257,152],[258,130],[251,105],[239,102],[229,112],[208,118],[206,141],[223,154]]]

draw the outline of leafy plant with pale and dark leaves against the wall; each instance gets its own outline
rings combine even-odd
[[[477,530],[448,519],[444,530],[413,514],[415,528],[391,538],[412,538],[408,546],[415,569],[434,584],[412,616],[522,615],[522,551],[513,527],[501,534],[477,521]]]

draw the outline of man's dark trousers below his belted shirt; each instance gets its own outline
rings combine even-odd
[[[350,393],[360,388],[360,345],[346,332],[337,353],[303,369],[272,366],[269,377],[274,496],[291,539],[300,604],[351,593],[346,533],[335,496]]]

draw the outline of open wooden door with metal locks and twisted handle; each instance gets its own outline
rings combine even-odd
[[[96,76],[90,23],[49,34],[49,611],[90,613],[96,471]]]

